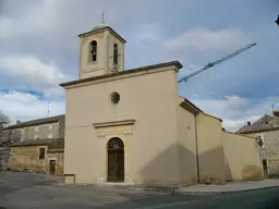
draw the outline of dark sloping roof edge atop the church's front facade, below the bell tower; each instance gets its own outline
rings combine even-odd
[[[106,77],[114,77],[114,76],[118,76],[118,75],[132,74],[132,73],[135,73],[135,72],[142,72],[142,71],[146,71],[146,70],[156,70],[158,67],[171,66],[171,65],[175,65],[179,70],[183,67],[183,65],[179,61],[163,62],[163,63],[159,63],[159,64],[141,66],[141,67],[137,67],[137,69],[130,69],[130,70],[120,71],[120,72],[116,72],[116,73],[109,73],[109,74],[98,75],[98,76],[94,76],[94,77],[76,79],[76,81],[73,81],[73,82],[68,82],[68,83],[60,84],[60,86],[66,87],[66,86],[73,85],[73,84],[81,84],[81,83],[84,83],[84,82],[92,82],[92,81],[97,81],[97,79],[101,79],[101,78],[106,78]]]

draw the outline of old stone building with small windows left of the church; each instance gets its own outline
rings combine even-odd
[[[64,114],[17,123],[5,128],[20,140],[10,145],[10,169],[63,174]]]

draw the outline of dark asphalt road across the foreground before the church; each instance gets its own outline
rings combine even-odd
[[[59,185],[57,180],[57,176],[0,172],[0,209],[279,209],[279,188],[220,196],[172,195],[114,187]]]

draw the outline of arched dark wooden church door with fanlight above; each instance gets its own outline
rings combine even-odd
[[[124,144],[117,137],[108,142],[108,182],[124,182]]]

